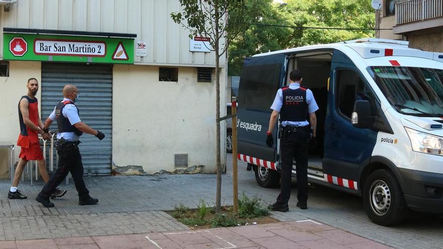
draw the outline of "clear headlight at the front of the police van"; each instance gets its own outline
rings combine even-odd
[[[443,155],[443,137],[438,137],[405,127],[411,140],[412,150],[422,153]]]

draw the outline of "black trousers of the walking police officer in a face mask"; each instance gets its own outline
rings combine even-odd
[[[49,196],[54,192],[55,188],[60,185],[61,182],[66,178],[67,174],[70,172],[74,184],[76,185],[79,197],[88,196],[89,191],[86,188],[85,182],[83,181],[83,163],[82,155],[79,150],[79,143],[77,142],[67,142],[65,140],[58,140],[57,153],[58,153],[58,164],[55,174],[51,176],[49,181],[45,184],[42,191],[38,194],[40,197],[49,199]]]

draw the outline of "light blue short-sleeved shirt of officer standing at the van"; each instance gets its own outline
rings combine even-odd
[[[300,88],[300,82],[293,82],[289,85],[289,88],[292,90],[296,90]],[[280,112],[281,107],[283,106],[283,92],[281,89],[277,91],[277,94],[275,95],[274,102],[272,103],[271,109],[275,110],[277,112]],[[308,104],[308,112],[314,113],[319,108],[317,106],[317,102],[315,102],[314,95],[312,94],[311,90],[306,90],[306,104]],[[282,126],[286,125],[294,125],[294,126],[307,126],[309,125],[309,122],[302,121],[302,122],[293,122],[293,121],[283,121],[281,122]]]

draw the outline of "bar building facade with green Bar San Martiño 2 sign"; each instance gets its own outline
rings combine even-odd
[[[63,86],[74,84],[82,121],[105,133],[103,141],[81,138],[86,174],[145,175],[192,166],[214,173],[215,54],[204,38],[191,40],[172,21],[180,8],[175,0],[18,0],[0,6],[0,141],[17,141],[17,104],[27,79],[35,77],[43,122],[62,100]],[[220,89],[226,89],[225,63],[222,56]],[[223,115],[225,91],[220,100]],[[0,160],[4,169],[5,162]]]

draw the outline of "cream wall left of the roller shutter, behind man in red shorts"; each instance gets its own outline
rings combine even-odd
[[[41,63],[10,61],[9,75],[9,77],[0,77],[0,141],[17,144],[20,133],[18,103],[20,97],[28,92],[26,88],[28,78],[34,77],[40,82]],[[39,102],[40,92],[41,86],[37,93]],[[19,153],[20,147],[16,146],[15,161],[18,161]],[[8,156],[7,150],[0,151],[0,158],[7,158]],[[4,173],[5,169],[9,169],[8,162],[8,160],[0,160],[0,175]]]

